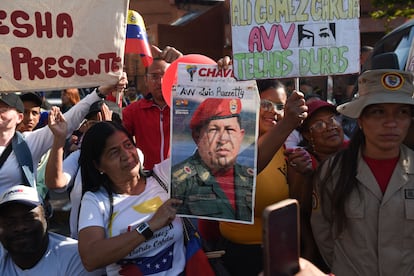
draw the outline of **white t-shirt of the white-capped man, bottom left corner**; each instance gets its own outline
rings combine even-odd
[[[0,255],[0,273],[7,276],[67,276],[67,275],[100,275],[98,272],[88,272],[82,265],[78,242],[71,238],[49,232],[49,245],[42,259],[30,269],[18,267],[11,256],[4,250]]]

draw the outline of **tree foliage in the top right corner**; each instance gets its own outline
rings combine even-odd
[[[414,0],[371,0],[371,3],[378,9],[371,13],[375,19],[414,18]]]

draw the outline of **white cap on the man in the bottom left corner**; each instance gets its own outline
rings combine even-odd
[[[0,207],[6,203],[17,202],[36,207],[43,202],[37,190],[26,185],[16,185],[7,189],[0,198]]]

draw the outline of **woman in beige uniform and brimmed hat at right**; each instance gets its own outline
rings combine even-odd
[[[413,75],[366,71],[358,88],[337,110],[359,128],[314,177],[313,233],[335,275],[413,275]]]

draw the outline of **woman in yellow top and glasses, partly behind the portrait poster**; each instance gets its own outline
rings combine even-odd
[[[258,275],[263,270],[262,213],[266,206],[290,195],[283,143],[300,124],[305,107],[302,93],[294,92],[287,100],[285,88],[277,80],[257,84],[260,113],[254,224],[221,221],[219,225],[225,238],[223,259],[231,275]],[[269,155],[271,161],[266,162]]]

